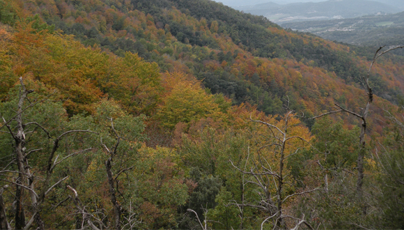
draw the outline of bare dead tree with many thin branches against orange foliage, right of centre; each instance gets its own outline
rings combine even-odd
[[[293,194],[289,194],[288,196],[284,194],[284,185],[287,183],[285,180],[288,176],[291,176],[285,172],[286,159],[300,151],[300,148],[295,148],[294,151],[290,152],[290,150],[288,151],[286,148],[289,142],[294,141],[295,139],[302,141],[302,144],[309,144],[309,141],[306,141],[306,139],[303,137],[290,135],[290,129],[296,125],[295,123],[290,123],[291,118],[294,116],[295,115],[291,111],[286,113],[282,117],[284,123],[282,127],[278,127],[261,120],[253,120],[250,117],[251,121],[267,126],[271,133],[270,142],[258,150],[255,160],[252,159],[253,157],[251,157],[250,153],[248,153],[249,155],[247,159],[251,159],[252,162],[252,167],[249,169],[249,171],[246,169],[240,169],[230,160],[235,169],[240,171],[243,175],[249,175],[250,179],[247,179],[246,183],[258,187],[259,192],[257,193],[260,197],[259,201],[254,203],[242,201],[242,204],[235,202],[230,205],[238,206],[239,208],[256,208],[263,211],[263,213],[267,213],[267,217],[265,217],[265,220],[263,220],[261,223],[261,229],[263,229],[265,222],[270,221],[272,221],[274,229],[286,229],[287,226],[284,220],[290,218],[289,215],[285,215],[283,213],[283,206],[286,201],[292,197],[319,190],[318,188],[314,188],[311,190],[304,190],[302,192],[295,192]],[[261,154],[261,151],[265,148],[277,155],[277,169],[272,169],[274,165],[270,164],[270,162],[268,162],[268,160],[265,159]],[[273,189],[275,189],[275,192],[272,192]]]

